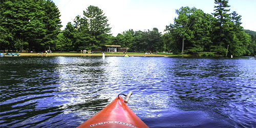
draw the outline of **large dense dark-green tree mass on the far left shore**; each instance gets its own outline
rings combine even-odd
[[[55,47],[61,32],[60,12],[52,1],[0,3],[0,49],[43,51]]]

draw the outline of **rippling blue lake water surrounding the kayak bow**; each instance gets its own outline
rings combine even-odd
[[[133,91],[150,127],[256,127],[256,60],[1,57],[0,127],[76,127]]]

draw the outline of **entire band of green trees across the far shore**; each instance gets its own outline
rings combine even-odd
[[[230,12],[227,0],[215,0],[213,13],[195,7],[176,10],[174,24],[164,33],[157,28],[133,29],[113,36],[103,10],[89,6],[64,30],[60,12],[51,0],[3,0],[0,3],[0,50],[41,52],[100,49],[120,45],[130,52],[213,52],[223,56],[256,55],[256,32],[244,30],[241,15]]]

